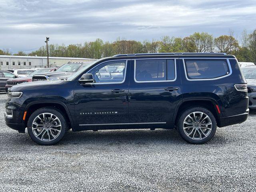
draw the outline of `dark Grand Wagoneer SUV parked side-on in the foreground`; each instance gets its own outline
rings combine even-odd
[[[116,68],[122,73],[113,74]],[[27,128],[41,145],[56,144],[70,128],[176,128],[187,142],[202,144],[217,126],[242,123],[248,112],[235,56],[125,54],[97,60],[67,80],[13,86],[5,121],[22,133]]]

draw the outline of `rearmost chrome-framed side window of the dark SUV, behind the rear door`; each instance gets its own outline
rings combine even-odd
[[[185,59],[189,79],[214,79],[230,74],[226,59]]]

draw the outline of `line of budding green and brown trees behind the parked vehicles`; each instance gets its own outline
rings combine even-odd
[[[195,32],[181,38],[163,36],[160,40],[125,40],[117,38],[114,42],[104,42],[96,39],[84,44],[49,44],[49,56],[52,57],[78,57],[78,58],[103,58],[116,54],[132,53],[160,53],[160,52],[224,52],[235,55],[240,62],[256,63],[256,30],[248,33],[242,32],[239,38],[234,37],[230,30],[228,35],[214,38],[207,32]],[[0,50],[0,55],[10,55],[9,50]],[[20,51],[13,55],[47,56],[46,46],[29,54]]]

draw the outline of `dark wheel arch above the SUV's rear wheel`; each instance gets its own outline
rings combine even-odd
[[[216,105],[218,105],[218,102],[216,100],[214,100],[213,98],[183,99],[176,106],[172,122],[175,122],[175,125],[176,125],[182,111],[184,111],[188,108],[191,108],[191,107],[200,106],[200,107],[204,107],[204,108],[210,110],[210,112],[212,112],[212,114],[214,115],[214,117],[216,119],[217,126],[218,126],[218,125],[220,125],[220,117],[222,117],[222,114],[221,114],[221,111],[220,111],[220,114],[218,113]],[[219,105],[218,105],[218,107],[219,107]]]

